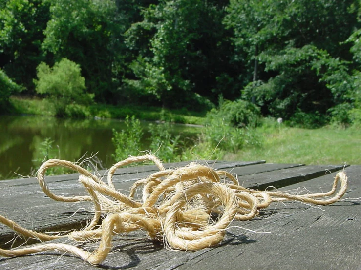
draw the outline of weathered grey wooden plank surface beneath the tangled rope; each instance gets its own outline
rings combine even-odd
[[[166,164],[184,166],[188,162]],[[281,191],[306,187],[319,193],[331,189],[334,176],[344,170],[348,191],[341,201],[322,207],[298,202],[274,203],[253,220],[234,221],[224,241],[200,251],[171,251],[142,231],[114,238],[113,252],[99,267],[69,254],[47,251],[16,258],[1,258],[0,270],[89,269],[361,269],[361,165],[305,166],[255,162],[209,162],[215,169],[237,174],[248,188],[273,186]],[[344,168],[345,167],[345,168]],[[134,181],[155,172],[155,166],[119,169],[114,184],[125,193]],[[106,172],[100,172],[101,175]],[[85,194],[78,174],[46,177],[49,188],[64,196]],[[21,226],[35,231],[81,228],[92,218],[91,202],[64,203],[48,198],[36,178],[0,181],[0,211]],[[240,227],[257,232],[244,230]],[[0,246],[21,244],[21,237],[0,224]],[[63,242],[54,240],[53,242]],[[69,243],[70,240],[67,240]],[[33,244],[28,241],[27,244]],[[96,244],[95,244],[96,245]]]

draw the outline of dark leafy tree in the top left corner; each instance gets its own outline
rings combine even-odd
[[[44,60],[41,43],[49,19],[42,0],[8,0],[0,9],[0,67],[33,93],[36,67]]]

